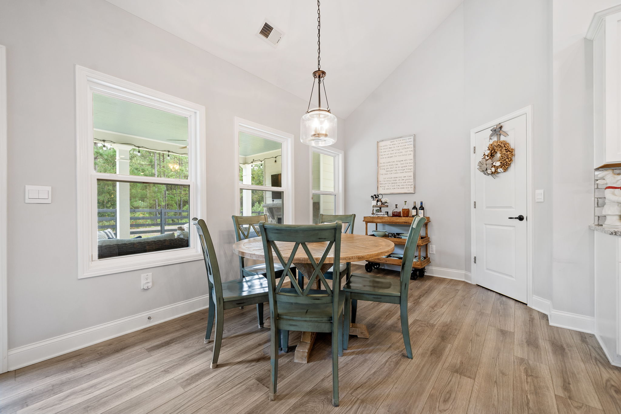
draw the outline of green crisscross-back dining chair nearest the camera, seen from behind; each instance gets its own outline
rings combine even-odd
[[[341,274],[338,266],[333,272],[333,286],[326,281],[321,266],[332,248],[334,263],[340,262],[342,223],[315,225],[288,225],[259,223],[263,252],[268,269],[268,294],[270,297],[270,333],[271,333],[271,385],[270,400],[276,398],[278,382],[278,351],[276,341],[278,330],[331,332],[332,333],[332,405],[338,406],[338,356],[343,354],[343,306],[345,297],[340,290]],[[294,243],[280,250],[279,242]],[[322,243],[320,251],[311,252],[309,243]],[[317,248],[318,245],[312,245]],[[305,259],[308,258],[314,271],[309,277],[306,288],[296,281],[289,271],[298,250]],[[318,254],[319,253],[319,254]],[[274,272],[274,254],[283,266],[284,274],[276,284]],[[314,256],[320,256],[315,261]],[[291,287],[283,287],[289,279]],[[311,289],[319,280],[322,289]]]

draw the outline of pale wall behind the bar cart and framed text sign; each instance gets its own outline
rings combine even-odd
[[[376,142],[415,138],[415,194],[384,194],[394,204],[422,200],[431,218],[436,254],[431,266],[464,271],[469,136],[463,126],[463,7],[458,7],[347,118],[345,213],[355,213],[355,232],[377,192]],[[374,227],[373,227],[374,229]],[[391,231],[404,231],[394,227]],[[369,229],[370,232],[370,229]]]

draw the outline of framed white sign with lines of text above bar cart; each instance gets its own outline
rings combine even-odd
[[[378,141],[378,193],[415,192],[414,137],[412,134]]]

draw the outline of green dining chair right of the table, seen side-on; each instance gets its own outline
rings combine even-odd
[[[345,292],[345,324],[343,333],[343,348],[347,349],[349,342],[349,328],[351,311],[354,300],[368,300],[384,304],[397,304],[401,309],[401,333],[406,344],[407,358],[412,359],[412,344],[410,344],[410,330],[407,321],[407,293],[410,286],[412,263],[416,254],[416,246],[420,237],[420,229],[425,223],[425,217],[417,216],[412,220],[410,232],[407,236],[406,248],[401,261],[399,279],[375,276],[373,274],[352,273],[343,286]]]

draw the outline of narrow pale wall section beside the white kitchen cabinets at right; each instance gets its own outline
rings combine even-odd
[[[594,315],[592,42],[595,12],[619,0],[553,0],[553,306]]]

